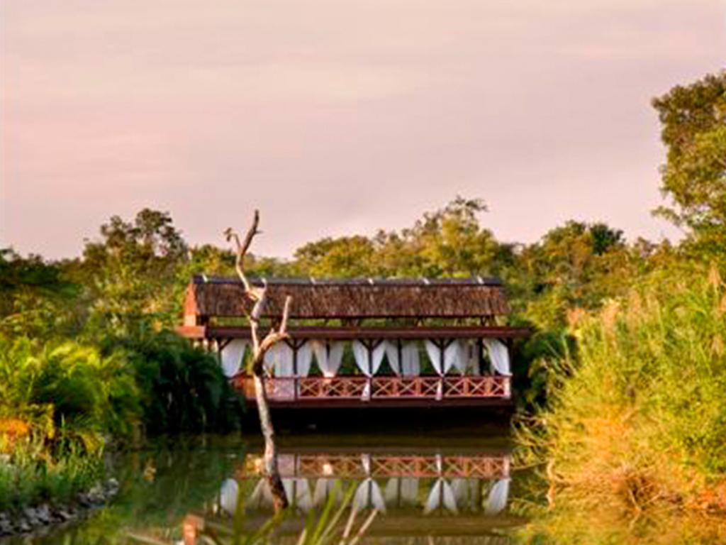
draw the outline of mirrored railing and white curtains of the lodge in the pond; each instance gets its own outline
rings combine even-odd
[[[259,456],[248,456],[237,475],[221,484],[221,512],[234,514],[240,491],[246,509],[272,510],[272,493],[260,472]],[[280,456],[280,472],[290,505],[303,513],[324,505],[331,494],[342,501],[353,485],[358,510],[494,517],[507,507],[510,457],[288,453]]]

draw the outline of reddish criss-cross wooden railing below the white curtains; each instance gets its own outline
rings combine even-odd
[[[255,389],[249,376],[233,379],[235,387],[250,399]],[[509,376],[277,376],[265,379],[269,399],[294,400],[380,400],[462,399],[510,397]]]

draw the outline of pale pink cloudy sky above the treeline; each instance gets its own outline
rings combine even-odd
[[[0,246],[78,254],[113,214],[258,253],[481,197],[505,241],[675,231],[650,98],[722,68],[724,0],[7,0]]]

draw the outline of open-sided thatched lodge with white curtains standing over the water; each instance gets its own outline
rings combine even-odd
[[[269,323],[279,323],[292,296],[290,338],[265,357],[274,410],[511,403],[510,348],[529,331],[502,325],[509,308],[499,280],[250,282],[267,288]],[[224,374],[253,405],[244,365],[251,352],[244,317],[251,308],[239,280],[198,275],[187,288],[178,331],[216,352]]]

